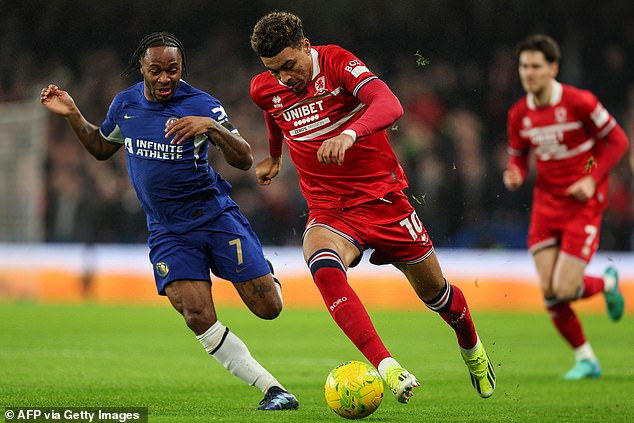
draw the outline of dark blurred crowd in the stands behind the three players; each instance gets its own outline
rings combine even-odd
[[[192,85],[210,92],[254,150],[268,152],[261,111],[249,97],[263,67],[249,36],[270,10],[304,21],[315,45],[339,44],[379,75],[405,115],[389,136],[409,177],[408,195],[439,247],[525,248],[530,186],[506,192],[506,113],[522,95],[515,44],[545,32],[563,50],[559,80],[592,90],[634,134],[634,3],[572,0],[325,0],[108,2],[0,0],[0,102],[37,99],[55,83],[86,118],[101,124],[113,96],[140,80],[120,76],[139,40],[169,31],[185,45]],[[421,66],[421,58],[428,64]],[[125,154],[97,162],[64,119],[47,126],[48,242],[144,243],[144,214],[128,181]],[[2,143],[11,143],[3,134]],[[306,204],[285,151],[283,172],[268,187],[255,172],[212,165],[265,245],[299,245]],[[19,160],[19,158],[18,158]],[[634,243],[634,156],[613,172],[601,248]],[[529,184],[530,185],[530,184]],[[531,185],[532,186],[532,185]],[[4,200],[3,200],[4,201]]]

